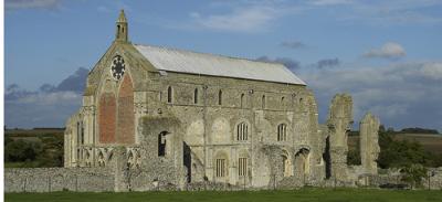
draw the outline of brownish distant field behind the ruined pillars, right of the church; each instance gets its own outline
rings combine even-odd
[[[396,140],[409,140],[420,142],[427,151],[434,153],[442,153],[442,135],[428,135],[428,134],[397,134],[393,135]],[[359,141],[359,136],[348,137],[348,147],[355,148]]]

